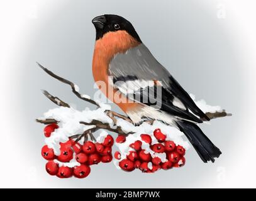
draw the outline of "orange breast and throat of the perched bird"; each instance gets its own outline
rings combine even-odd
[[[113,89],[109,83],[108,67],[114,55],[125,53],[140,43],[130,36],[126,31],[115,31],[106,33],[103,38],[95,43],[92,60],[92,74],[97,86],[109,100],[117,104],[124,112],[136,107],[137,103],[129,103],[128,99],[121,96],[121,99],[114,99],[118,90]],[[104,86],[103,86],[104,84]]]

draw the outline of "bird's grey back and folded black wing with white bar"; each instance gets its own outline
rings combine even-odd
[[[147,46],[131,48],[125,53],[115,55],[109,63],[109,75],[113,76],[113,84],[130,99],[138,100],[148,106],[158,107],[174,116],[195,122],[202,122],[199,117],[208,117],[196,106],[189,94],[170,73],[153,57]],[[161,95],[156,96],[161,84]],[[139,97],[139,99],[138,99]],[[145,99],[146,97],[146,99]],[[146,101],[142,101],[146,100]],[[152,104],[152,100],[155,100]]]

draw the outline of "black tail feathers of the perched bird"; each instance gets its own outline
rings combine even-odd
[[[218,158],[221,155],[220,149],[207,138],[196,124],[189,121],[177,121],[177,125],[194,146],[204,163],[210,160],[214,163],[214,158]]]

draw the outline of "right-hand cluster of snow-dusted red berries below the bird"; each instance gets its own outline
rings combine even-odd
[[[140,169],[144,173],[153,173],[157,170],[169,170],[172,167],[181,167],[185,165],[186,150],[174,143],[174,141],[166,140],[167,136],[160,129],[153,131],[153,136],[157,139],[157,143],[152,143],[152,136],[149,134],[141,134],[141,140],[136,140],[130,144],[131,150],[128,151],[125,158],[121,159],[121,153],[116,151],[114,158],[119,161],[122,170],[133,171],[135,168]],[[118,136],[116,143],[124,143],[125,136]],[[142,144],[146,143],[150,150],[144,149]],[[165,153],[165,160],[162,161],[157,154]]]

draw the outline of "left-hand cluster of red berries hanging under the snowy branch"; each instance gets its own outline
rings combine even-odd
[[[57,128],[57,124],[46,126],[44,129],[45,136],[50,137]],[[105,136],[103,143],[86,141],[84,144],[80,144],[69,139],[65,143],[60,143],[60,155],[58,156],[55,155],[52,148],[45,145],[42,148],[42,156],[48,160],[45,166],[46,171],[59,178],[69,178],[73,175],[77,178],[85,178],[91,172],[91,165],[112,161],[113,144],[114,139],[109,134]],[[75,160],[75,166],[70,165],[71,160]]]

